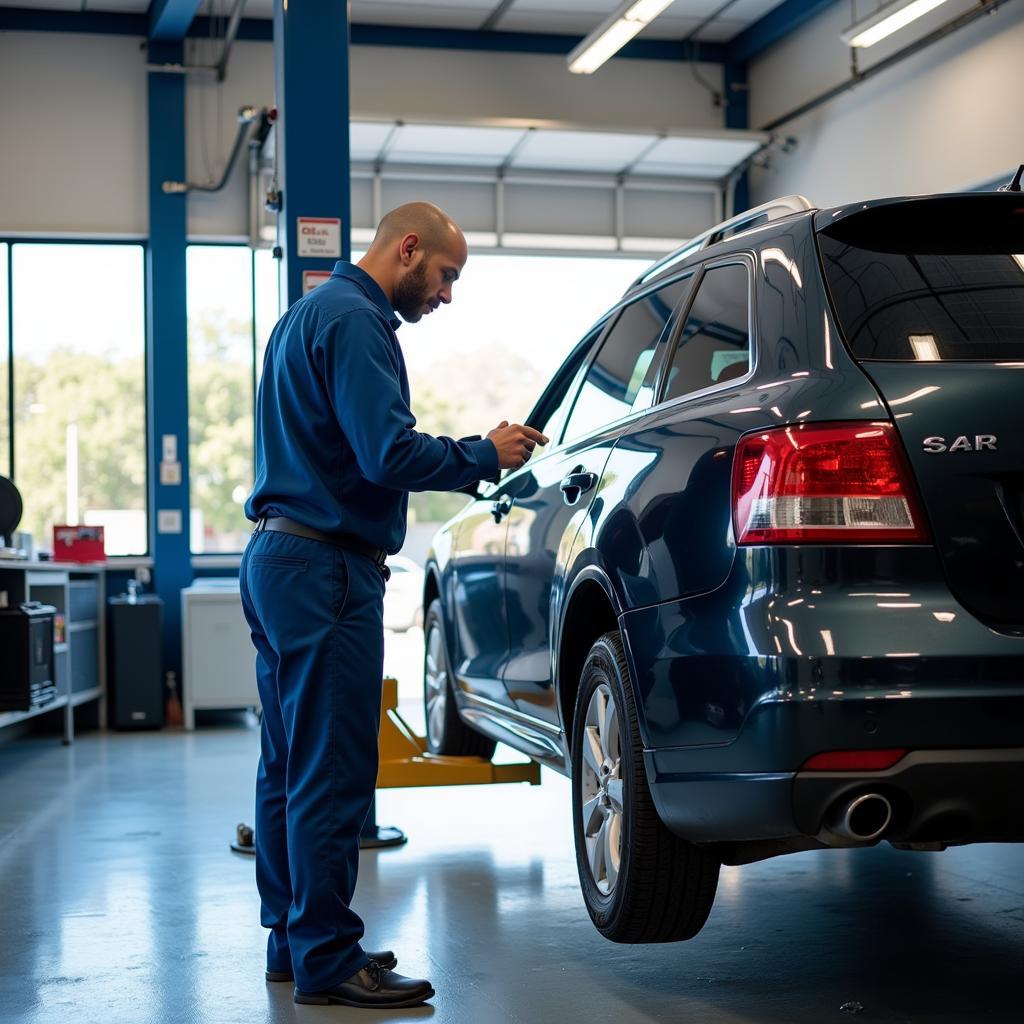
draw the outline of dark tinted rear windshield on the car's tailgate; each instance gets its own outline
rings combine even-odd
[[[1024,358],[1024,199],[911,200],[820,227],[833,308],[858,359]]]

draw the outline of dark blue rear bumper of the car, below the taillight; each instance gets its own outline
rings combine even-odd
[[[813,838],[833,804],[884,784],[894,842],[929,842],[936,821],[946,842],[1024,839],[1024,639],[966,612],[934,551],[746,549],[715,592],[620,623],[678,835]],[[882,775],[800,770],[878,749],[915,753]]]

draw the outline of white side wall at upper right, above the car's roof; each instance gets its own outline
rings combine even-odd
[[[863,51],[862,67],[971,6],[941,5],[918,27]],[[849,6],[838,3],[752,65],[753,128],[848,77],[839,34],[850,20]],[[834,206],[955,190],[1015,168],[1024,162],[1022,54],[1024,4],[1011,2],[779,128],[798,145],[753,172],[753,201],[799,193]]]

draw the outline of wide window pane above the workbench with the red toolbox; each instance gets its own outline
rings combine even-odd
[[[23,529],[105,527],[109,555],[146,551],[141,246],[11,246],[14,481]]]

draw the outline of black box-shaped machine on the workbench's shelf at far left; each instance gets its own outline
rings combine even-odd
[[[0,608],[0,711],[32,711],[57,695],[53,676],[53,616],[56,608],[27,601]]]

